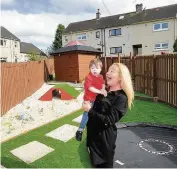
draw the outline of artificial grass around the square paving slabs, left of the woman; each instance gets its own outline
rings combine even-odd
[[[78,123],[72,122],[72,120],[78,117],[81,113],[82,111],[77,111],[76,113],[56,120],[6,143],[2,143],[1,164],[9,168],[91,168],[92,166],[90,165],[89,156],[85,147],[85,133],[81,143],[76,141],[75,138],[67,143],[64,143],[45,136],[46,133],[64,124],[78,126]],[[19,160],[10,153],[11,150],[34,140],[39,141],[55,150],[30,165]]]

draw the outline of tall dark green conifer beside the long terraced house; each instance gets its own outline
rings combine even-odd
[[[57,30],[56,30],[56,33],[55,33],[55,40],[53,41],[53,50],[56,50],[58,48],[61,48],[62,47],[62,34],[65,30],[65,26],[62,25],[62,24],[59,24],[57,26]]]

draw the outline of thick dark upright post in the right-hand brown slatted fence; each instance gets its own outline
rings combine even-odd
[[[157,97],[156,56],[153,55],[153,97]]]

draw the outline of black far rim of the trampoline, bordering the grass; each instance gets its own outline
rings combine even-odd
[[[117,123],[117,128],[127,128],[127,127],[161,127],[167,129],[174,129],[177,130],[177,126],[173,125],[160,125],[160,124],[152,124],[152,123]]]

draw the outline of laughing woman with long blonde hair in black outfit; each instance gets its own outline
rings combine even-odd
[[[106,74],[109,91],[107,97],[98,95],[91,108],[89,102],[83,105],[88,112],[87,147],[90,158],[97,168],[113,168],[118,122],[131,108],[134,98],[132,80],[128,68],[114,63]]]

